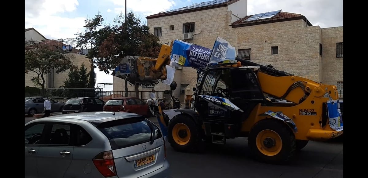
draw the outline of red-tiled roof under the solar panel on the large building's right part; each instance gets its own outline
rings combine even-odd
[[[247,15],[244,18],[241,18],[241,19],[231,23],[231,26],[246,25],[246,24],[253,25],[254,23],[261,24],[261,23],[271,23],[271,22],[274,22],[274,21],[287,21],[289,19],[291,20],[291,19],[296,19],[296,18],[299,18],[299,19],[305,18],[304,15],[301,15],[301,14],[294,14],[294,13],[290,13],[290,12],[279,12],[279,14],[277,14],[277,15],[273,16],[272,18],[269,18],[269,19],[261,19],[261,20],[243,22],[246,19],[250,18],[251,16],[252,15]],[[312,25],[310,25],[310,26],[312,26]]]

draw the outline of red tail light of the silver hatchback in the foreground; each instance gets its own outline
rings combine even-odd
[[[103,177],[116,176],[116,168],[112,151],[101,152],[93,158],[92,161]]]

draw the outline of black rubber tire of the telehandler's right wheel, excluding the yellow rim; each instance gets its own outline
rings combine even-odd
[[[268,156],[259,151],[256,138],[263,130],[272,130],[280,136],[282,148],[276,155]],[[248,146],[256,159],[270,164],[287,164],[296,152],[296,140],[293,131],[285,123],[275,119],[266,119],[256,123],[249,133]]]

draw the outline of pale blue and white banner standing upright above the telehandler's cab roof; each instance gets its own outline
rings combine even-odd
[[[235,48],[223,38],[217,37],[213,45],[209,64],[221,64],[236,62]]]

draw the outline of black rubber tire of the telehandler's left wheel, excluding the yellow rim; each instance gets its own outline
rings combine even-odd
[[[188,143],[185,145],[178,144],[173,138],[173,128],[178,123],[185,124],[190,130],[190,138],[189,138]],[[200,131],[201,126],[198,126],[189,115],[179,114],[175,116],[175,118],[170,120],[168,127],[169,128],[168,128],[167,137],[168,137],[171,147],[173,147],[176,151],[198,152],[201,150],[200,149],[201,142],[202,142],[201,131]]]

